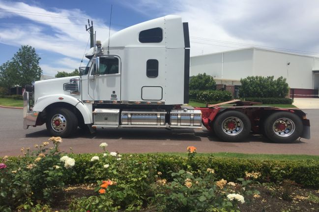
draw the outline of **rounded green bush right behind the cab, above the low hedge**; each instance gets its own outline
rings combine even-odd
[[[206,75],[206,73],[198,74],[197,76],[193,77],[189,82],[189,89],[200,91],[215,90],[216,82],[212,76]]]

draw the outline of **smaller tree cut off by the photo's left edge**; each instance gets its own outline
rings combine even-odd
[[[7,93],[11,94],[11,88],[18,85],[19,76],[14,69],[11,61],[6,61],[0,65],[0,86],[7,90]]]

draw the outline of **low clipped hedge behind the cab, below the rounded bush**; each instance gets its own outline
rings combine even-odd
[[[189,98],[198,102],[225,102],[232,100],[232,93],[229,91],[189,91]]]

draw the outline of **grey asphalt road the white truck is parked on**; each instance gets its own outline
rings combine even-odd
[[[187,146],[197,147],[198,152],[242,152],[268,154],[319,155],[319,109],[303,110],[311,122],[311,139],[296,140],[292,144],[275,144],[266,138],[251,135],[239,143],[220,141],[206,129],[101,129],[87,134],[80,129],[72,138],[63,139],[62,151],[75,153],[101,152],[99,144],[109,144],[109,151],[121,153],[186,152]],[[0,156],[18,155],[21,147],[33,147],[48,141],[50,135],[45,125],[23,129],[23,110],[0,108]]]

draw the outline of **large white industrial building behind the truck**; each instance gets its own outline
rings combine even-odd
[[[247,76],[283,76],[295,97],[313,97],[319,90],[319,58],[247,48],[191,57],[190,76],[206,73],[217,84],[240,85]]]

